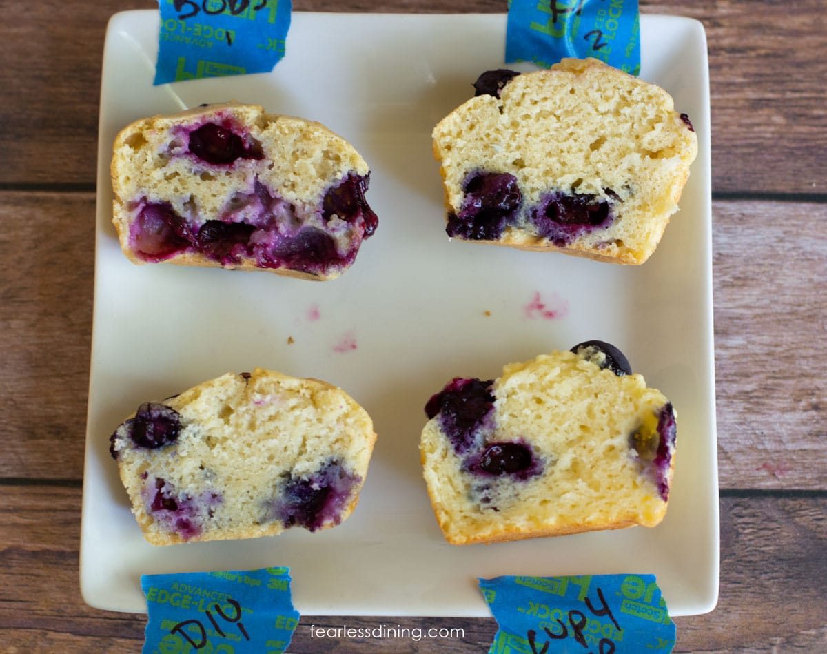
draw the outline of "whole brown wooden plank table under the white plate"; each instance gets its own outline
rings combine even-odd
[[[145,616],[84,604],[78,551],[103,36],[112,13],[155,7],[0,6],[2,652],[141,649]],[[335,9],[504,7],[351,0]],[[720,599],[712,613],[676,618],[676,652],[827,652],[827,5],[702,0],[641,9],[697,18],[710,47]],[[318,647],[310,622],[290,651]],[[331,651],[484,652],[495,633],[493,619],[347,623],[461,627],[465,636],[327,641]]]

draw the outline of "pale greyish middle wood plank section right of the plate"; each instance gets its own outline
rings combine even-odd
[[[825,489],[827,205],[713,214],[722,487]]]

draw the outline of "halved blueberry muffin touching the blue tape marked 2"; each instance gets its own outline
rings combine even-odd
[[[480,75],[433,130],[447,234],[641,264],[698,151],[672,97],[594,59]]]

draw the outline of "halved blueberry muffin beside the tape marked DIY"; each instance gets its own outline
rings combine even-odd
[[[141,404],[110,452],[144,537],[170,545],[336,526],[375,439],[342,389],[256,368]]]

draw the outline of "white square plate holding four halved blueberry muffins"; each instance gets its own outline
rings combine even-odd
[[[641,77],[691,116],[700,154],[657,252],[626,267],[445,235],[430,132],[471,96],[480,72],[503,66],[504,15],[294,13],[272,73],[154,87],[158,20],[152,11],[112,17],[103,55],[80,557],[88,604],[146,611],[142,574],[289,566],[295,606],[308,615],[488,616],[478,576],[622,572],[656,574],[672,615],[712,609],[719,521],[700,23],[641,20]],[[340,279],[136,266],[122,255],[110,222],[117,131],[232,98],[323,122],[370,164],[367,198],[380,226]],[[653,529],[448,545],[419,466],[428,398],[453,376],[493,378],[506,363],[590,338],[619,346],[679,413],[667,518]],[[337,384],[374,418],[379,439],[356,512],[314,534],[151,547],[109,435],[142,401],[255,365]]]

